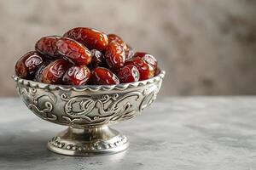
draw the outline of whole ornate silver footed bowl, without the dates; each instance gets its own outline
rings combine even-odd
[[[151,79],[119,85],[49,85],[14,76],[26,106],[40,118],[68,126],[49,139],[48,149],[69,156],[113,154],[127,149],[125,135],[108,127],[137,116],[150,105],[165,71]]]

